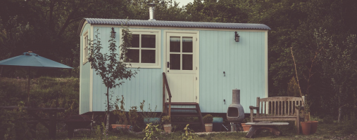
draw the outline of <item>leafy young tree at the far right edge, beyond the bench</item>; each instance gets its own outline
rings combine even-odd
[[[320,29],[315,33],[316,43],[322,46],[319,55],[321,59],[322,78],[330,83],[339,108],[338,122],[342,120],[342,107],[354,107],[353,100],[357,76],[357,58],[353,55],[357,52],[356,35],[351,35],[343,42],[334,42],[332,37],[327,36],[327,31]],[[352,100],[351,100],[352,99]]]

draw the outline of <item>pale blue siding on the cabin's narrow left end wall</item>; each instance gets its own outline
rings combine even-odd
[[[90,67],[89,62],[83,65],[83,34],[88,31],[90,38],[90,25],[84,26],[80,37],[80,114],[89,112],[89,90],[90,85]]]

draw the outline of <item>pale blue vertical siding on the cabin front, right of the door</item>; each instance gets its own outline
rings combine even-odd
[[[256,104],[256,97],[265,97],[265,32],[238,34],[240,41],[235,42],[234,31],[200,31],[202,112],[226,113],[235,88],[241,90],[245,113]]]

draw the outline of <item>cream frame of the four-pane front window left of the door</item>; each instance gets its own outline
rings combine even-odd
[[[158,29],[129,29],[129,31],[132,32],[132,34],[149,34],[149,35],[155,35],[156,36],[156,43],[155,43],[155,48],[142,48],[142,40],[139,39],[139,48],[128,48],[128,49],[135,49],[139,50],[139,62],[127,62],[126,64],[127,67],[131,68],[161,68],[161,30]],[[120,38],[121,38],[121,32],[120,30]],[[141,38],[141,36],[140,36]],[[123,42],[123,41],[122,41]],[[142,60],[142,51],[140,50],[156,50],[155,51],[155,63],[141,63]],[[131,66],[129,65],[131,64]]]

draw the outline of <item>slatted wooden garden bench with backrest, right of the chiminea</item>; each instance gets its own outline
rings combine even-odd
[[[303,105],[304,97],[268,97],[256,98],[256,106],[249,106],[251,110],[251,122],[294,120],[297,127],[297,134],[300,134],[300,109],[297,106]],[[256,110],[256,116],[253,111]]]

